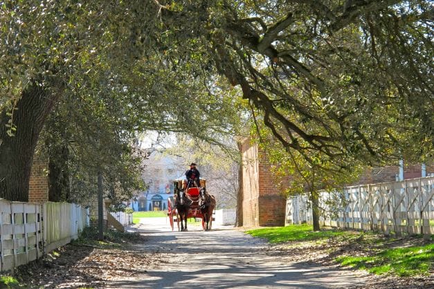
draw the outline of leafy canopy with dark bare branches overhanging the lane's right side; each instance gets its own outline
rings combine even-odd
[[[219,73],[287,149],[309,161],[311,151],[345,156],[342,167],[432,157],[430,1],[159,4],[168,32],[201,35]],[[201,11],[196,30],[174,21],[190,10]]]

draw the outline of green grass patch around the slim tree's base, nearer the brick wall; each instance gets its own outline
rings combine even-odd
[[[267,227],[262,229],[248,230],[247,234],[258,238],[264,238],[270,243],[284,243],[288,241],[316,241],[329,239],[334,236],[354,234],[343,230],[323,230],[314,232],[311,225],[290,225],[287,227]]]

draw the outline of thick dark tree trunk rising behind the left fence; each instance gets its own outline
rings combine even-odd
[[[33,154],[46,116],[60,94],[33,84],[22,93],[13,112],[15,136],[6,127],[10,115],[0,114],[0,197],[10,201],[28,201],[28,182]]]

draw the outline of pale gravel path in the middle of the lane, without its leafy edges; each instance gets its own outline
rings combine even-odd
[[[165,218],[147,218],[138,230],[148,241],[136,250],[165,260],[141,275],[112,279],[107,288],[349,288],[365,282],[359,272],[269,256],[264,241],[233,228],[171,232]]]

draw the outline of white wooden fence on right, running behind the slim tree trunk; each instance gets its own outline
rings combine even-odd
[[[398,236],[434,234],[434,177],[321,192],[320,208],[320,223],[330,227],[380,230]],[[306,196],[287,199],[287,224],[311,221]]]

